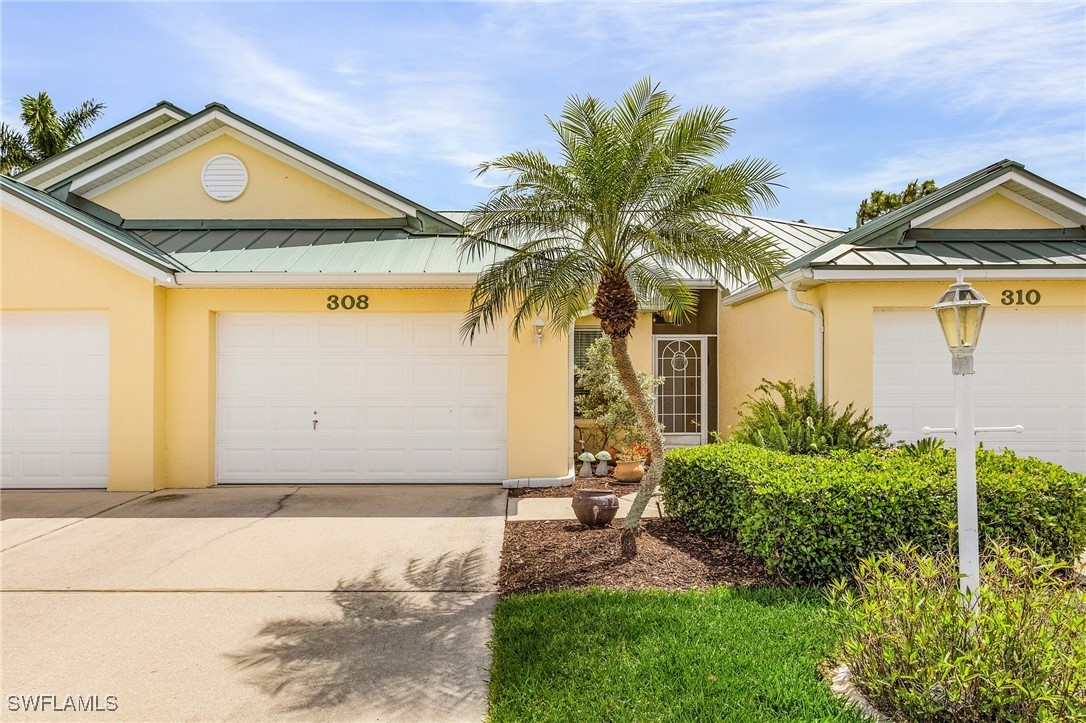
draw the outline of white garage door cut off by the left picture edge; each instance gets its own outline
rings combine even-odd
[[[4,487],[109,481],[110,320],[102,312],[5,312]]]

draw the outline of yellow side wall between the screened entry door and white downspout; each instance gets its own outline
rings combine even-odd
[[[821,305],[823,287],[800,292],[799,299]],[[718,426],[728,436],[738,419],[738,407],[762,378],[815,380],[813,316],[788,303],[779,290],[744,304],[720,309],[717,338],[719,396]]]

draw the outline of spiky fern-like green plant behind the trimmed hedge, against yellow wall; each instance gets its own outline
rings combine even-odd
[[[736,442],[816,455],[831,449],[856,452],[880,447],[889,436],[885,424],[872,426],[867,409],[858,415],[849,404],[838,413],[836,404],[819,402],[813,384],[797,386],[794,381],[762,379],[755,392],[761,397],[750,396],[740,407],[740,421],[732,433]]]

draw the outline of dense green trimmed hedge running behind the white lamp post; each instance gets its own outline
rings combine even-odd
[[[1074,561],[1086,547],[1086,477],[980,449],[981,534]],[[668,515],[737,540],[770,572],[824,583],[909,542],[936,549],[955,520],[952,452],[788,455],[728,442],[669,452]]]

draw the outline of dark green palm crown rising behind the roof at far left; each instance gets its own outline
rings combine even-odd
[[[58,115],[53,99],[42,91],[21,99],[20,117],[26,132],[0,124],[0,173],[16,174],[41,163],[83,140],[83,131],[102,114],[105,103],[84,101]]]

